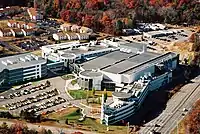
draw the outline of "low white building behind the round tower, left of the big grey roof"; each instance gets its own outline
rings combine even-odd
[[[98,56],[119,50],[118,47],[109,46],[105,43],[97,43],[91,41],[88,43],[80,43],[79,41],[66,42],[61,44],[54,44],[42,46],[42,57],[52,61],[60,61],[63,54],[75,54],[76,61],[89,60]]]

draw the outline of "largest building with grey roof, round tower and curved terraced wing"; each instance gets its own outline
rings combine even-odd
[[[178,62],[175,53],[158,54],[147,51],[142,44],[123,44],[119,50],[80,64],[78,82],[85,89],[101,83],[98,90],[115,91],[112,103],[102,103],[101,121],[109,125],[133,115],[149,92],[170,83]]]

